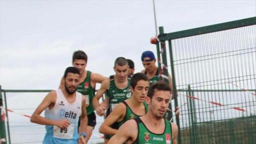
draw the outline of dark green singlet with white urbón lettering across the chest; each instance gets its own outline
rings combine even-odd
[[[115,108],[117,104],[131,97],[131,79],[128,78],[127,87],[124,89],[119,89],[115,85],[115,79],[110,80],[109,89],[107,90],[106,96],[109,99],[110,112]]]

